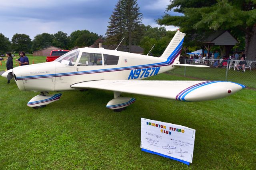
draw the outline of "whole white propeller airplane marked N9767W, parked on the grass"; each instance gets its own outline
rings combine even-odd
[[[228,81],[138,81],[170,71],[179,66],[208,67],[180,64],[179,57],[186,34],[177,31],[161,57],[152,57],[104,48],[79,48],[55,61],[15,67],[2,74],[12,73],[22,91],[38,91],[28,102],[29,107],[45,107],[57,101],[61,93],[49,91],[101,89],[114,92],[114,99],[106,107],[122,111],[135,99],[120,97],[132,93],[174,99],[178,101],[205,101],[229,96],[244,85]]]

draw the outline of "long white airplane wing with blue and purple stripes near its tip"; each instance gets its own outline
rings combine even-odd
[[[76,89],[101,89],[175,99],[205,101],[229,96],[244,85],[228,81],[151,81],[151,80],[96,80],[76,83]]]

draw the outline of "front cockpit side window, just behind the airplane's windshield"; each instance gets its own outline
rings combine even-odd
[[[78,66],[102,65],[102,55],[100,53],[83,52]]]

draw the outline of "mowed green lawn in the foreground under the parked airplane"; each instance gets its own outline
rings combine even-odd
[[[190,80],[160,74],[150,80]],[[0,169],[256,169],[256,91],[224,99],[180,102],[122,94],[136,102],[106,109],[111,91],[64,91],[32,109],[35,92],[0,77]],[[190,166],[140,148],[140,118],[196,129]]]

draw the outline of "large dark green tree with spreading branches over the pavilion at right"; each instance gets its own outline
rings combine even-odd
[[[256,0],[173,0],[167,10],[183,16],[164,15],[159,24],[179,26],[185,33],[229,30],[245,37],[247,60],[256,59]]]

